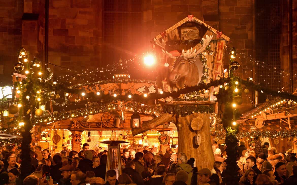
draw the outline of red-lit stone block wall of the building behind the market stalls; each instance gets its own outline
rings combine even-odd
[[[293,46],[288,41],[289,1],[281,6],[280,58],[286,69],[290,66],[288,48],[293,47],[293,61],[297,60],[297,35],[293,36]],[[48,43],[45,42],[47,2]],[[231,38],[228,46],[253,58],[255,3],[255,0],[5,0],[0,6],[0,81],[10,82],[18,47],[25,47],[31,55],[45,61],[48,46],[48,62],[52,64],[76,70],[96,68],[120,57],[131,58],[147,52],[154,36],[189,14],[222,31]],[[295,2],[293,30],[297,20],[294,10]],[[226,68],[229,61],[225,57]],[[240,63],[240,77],[256,77],[250,60],[241,58]],[[69,72],[59,67],[53,70],[57,75]]]

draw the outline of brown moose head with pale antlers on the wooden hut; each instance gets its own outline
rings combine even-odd
[[[176,84],[177,87],[183,88],[185,86],[195,86],[201,81],[203,74],[203,65],[198,58],[198,54],[201,53],[209,44],[213,36],[206,35],[206,39],[202,38],[203,45],[198,50],[182,50],[180,56],[173,56],[171,53],[164,51],[166,43],[162,40],[162,43],[157,39],[154,39],[155,43],[162,47],[162,51],[170,58],[175,59],[174,68],[168,76],[168,80]]]

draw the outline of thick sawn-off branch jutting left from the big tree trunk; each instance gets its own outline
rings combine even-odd
[[[148,130],[154,129],[159,125],[162,125],[166,122],[176,122],[176,118],[174,114],[161,114],[160,116],[151,119],[149,121],[143,122],[141,128],[132,128],[132,135],[135,136],[137,134],[146,132]]]

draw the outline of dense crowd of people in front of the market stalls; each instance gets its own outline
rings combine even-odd
[[[121,175],[106,171],[108,152],[90,150],[83,144],[82,151],[64,149],[53,156],[48,149],[35,146],[31,151],[30,176],[20,174],[21,151],[0,150],[0,185],[224,185],[226,168],[225,145],[213,144],[215,162],[211,169],[198,170],[195,159],[184,153],[175,154],[171,148],[163,154],[158,148],[145,146],[141,150],[124,147],[121,154]],[[237,181],[240,185],[297,184],[296,154],[276,154],[264,143],[256,155],[248,151],[242,141],[238,146]]]

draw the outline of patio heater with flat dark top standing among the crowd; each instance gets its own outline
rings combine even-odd
[[[115,170],[116,178],[118,179],[119,176],[122,174],[120,144],[129,143],[129,142],[112,140],[112,141],[102,141],[100,143],[108,144],[106,171]],[[105,181],[106,180],[107,180],[107,177],[105,175]]]

